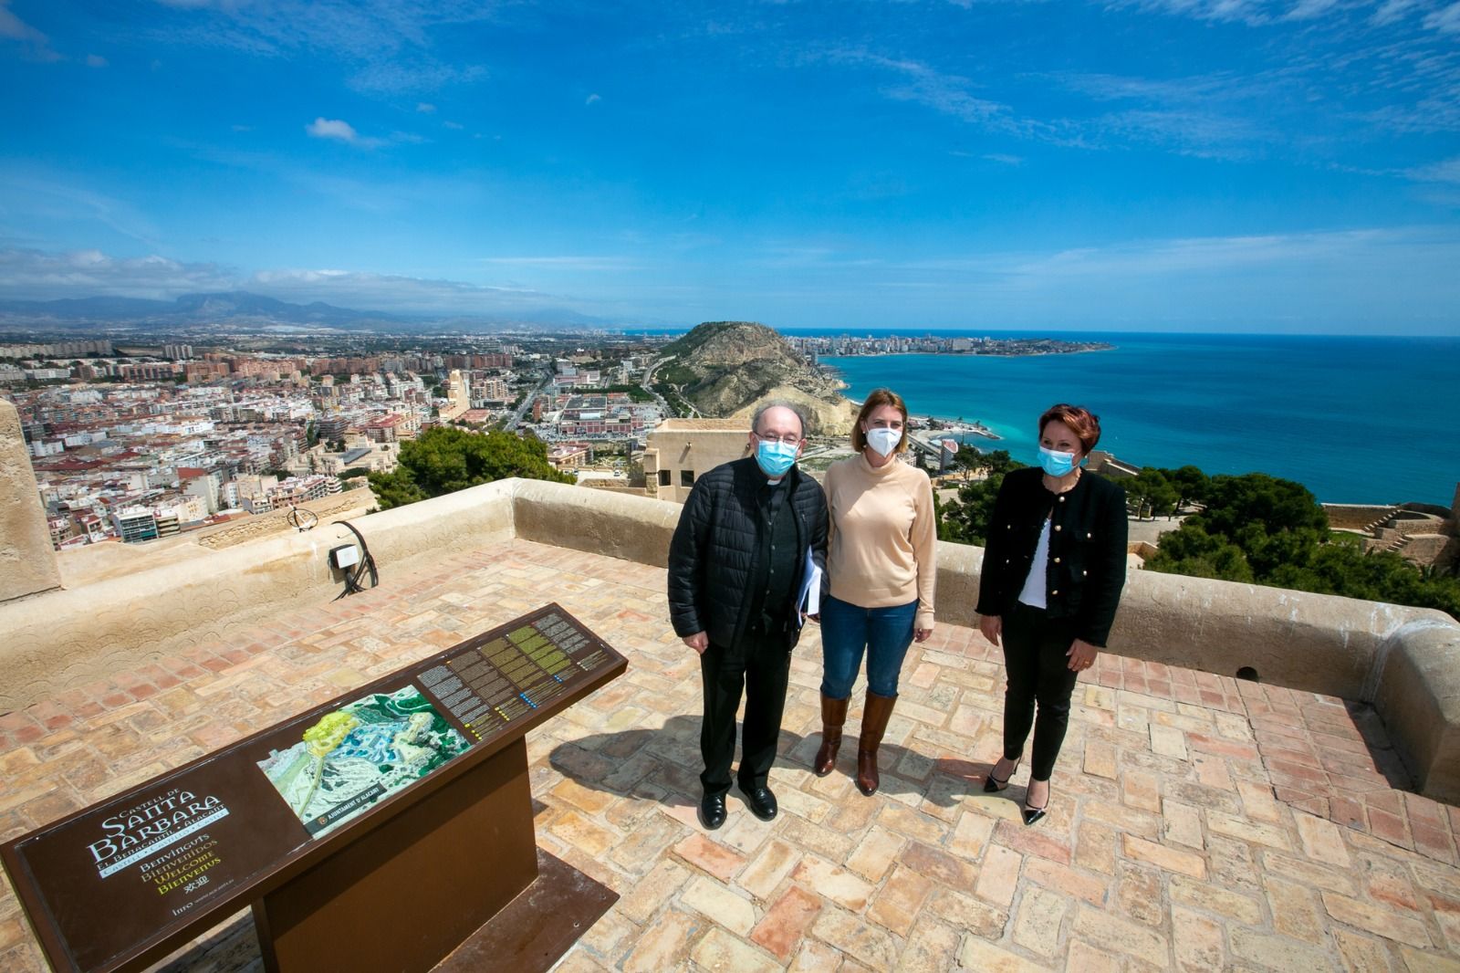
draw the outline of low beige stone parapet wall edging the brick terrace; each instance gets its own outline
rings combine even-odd
[[[512,536],[663,567],[679,513],[647,497],[499,481],[355,524],[388,587],[418,558]],[[0,605],[10,634],[0,711],[326,603],[342,589],[326,554],[350,541],[345,527],[321,526]],[[940,621],[977,624],[981,565],[981,548],[939,545]],[[1251,668],[1264,682],[1372,701],[1421,789],[1460,801],[1460,625],[1441,612],[1133,571],[1110,650],[1222,675]]]

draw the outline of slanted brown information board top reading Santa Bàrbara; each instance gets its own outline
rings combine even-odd
[[[54,966],[117,969],[623,666],[549,605],[16,839],[6,871]]]

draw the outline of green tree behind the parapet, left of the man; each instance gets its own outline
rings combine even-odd
[[[548,447],[539,440],[435,427],[404,443],[394,472],[371,473],[369,485],[381,510],[390,510],[508,476],[572,482],[552,468]]]

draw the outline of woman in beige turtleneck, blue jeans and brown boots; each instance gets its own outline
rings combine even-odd
[[[831,532],[822,603],[822,745],[815,770],[837,766],[851,684],[867,656],[867,704],[857,742],[857,787],[877,790],[877,748],[898,698],[898,674],[908,646],[933,633],[937,580],[933,485],[923,470],[899,462],[907,450],[908,409],[902,396],[877,389],[851,430],[857,456],[826,470]]]

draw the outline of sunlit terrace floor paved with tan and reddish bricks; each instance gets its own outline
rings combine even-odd
[[[664,571],[514,539],[0,717],[12,839],[558,600],[629,671],[529,738],[537,842],[622,898],[562,970],[1454,970],[1460,809],[1403,790],[1372,710],[1102,656],[1047,820],[981,787],[1003,668],[977,631],[914,646],[883,789],[818,779],[819,641],[793,663],[781,815],[704,833],[699,675]],[[856,698],[863,687],[858,684]],[[856,733],[860,704],[848,720]],[[261,969],[247,913],[172,970]],[[9,885],[0,969],[45,969]]]

